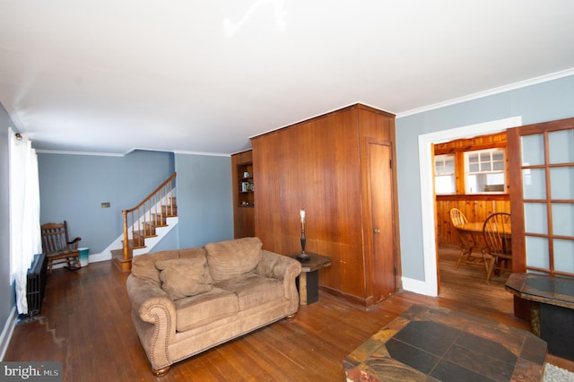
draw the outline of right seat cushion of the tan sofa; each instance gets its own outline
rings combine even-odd
[[[257,307],[284,297],[283,282],[256,273],[217,282],[215,286],[235,293],[239,299],[239,310]]]

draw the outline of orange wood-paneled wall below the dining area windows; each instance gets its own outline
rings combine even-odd
[[[458,208],[470,221],[485,221],[491,213],[510,213],[509,195],[439,195],[436,199],[436,231],[439,245],[458,245],[458,233],[450,222],[450,209]]]

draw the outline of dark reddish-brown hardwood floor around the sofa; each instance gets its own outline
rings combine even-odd
[[[111,262],[48,277],[38,319],[20,322],[6,361],[62,361],[65,381],[344,381],[343,359],[413,304],[457,309],[528,329],[512,313],[506,276],[484,283],[482,268],[454,270],[457,249],[441,248],[438,298],[401,291],[369,310],[320,293],[300,307],[295,321],[282,320],[230,343],[178,362],[154,378],[132,326],[127,273]],[[574,362],[548,358],[574,370]]]

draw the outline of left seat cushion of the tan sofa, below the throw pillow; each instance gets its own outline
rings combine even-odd
[[[237,296],[230,291],[213,288],[211,291],[174,301],[176,306],[176,330],[185,332],[207,325],[239,311]]]

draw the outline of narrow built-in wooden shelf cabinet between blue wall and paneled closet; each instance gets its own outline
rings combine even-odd
[[[251,151],[231,155],[235,239],[255,236],[255,181]]]

